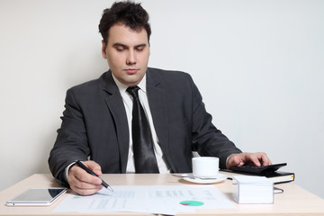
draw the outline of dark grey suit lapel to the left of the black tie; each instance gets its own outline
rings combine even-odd
[[[112,78],[109,70],[103,77],[103,90],[107,93],[105,102],[109,111],[112,113],[116,136],[119,145],[119,156],[121,161],[121,173],[126,173],[128,153],[130,148],[130,133],[127,122],[125,107],[122,102],[121,94]]]

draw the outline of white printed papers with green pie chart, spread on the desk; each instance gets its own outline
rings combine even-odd
[[[131,211],[174,215],[196,209],[235,208],[213,185],[113,186],[113,195],[74,193],[58,204],[56,212]]]

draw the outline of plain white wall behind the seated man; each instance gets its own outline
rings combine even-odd
[[[239,148],[324,198],[324,1],[142,2],[149,65],[189,72]],[[107,69],[97,25],[111,3],[0,0],[0,190],[49,173],[67,88]]]

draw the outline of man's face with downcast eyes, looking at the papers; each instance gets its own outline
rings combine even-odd
[[[107,44],[103,42],[102,52],[121,84],[138,85],[148,68],[147,31],[132,31],[121,23],[114,24],[108,32]]]

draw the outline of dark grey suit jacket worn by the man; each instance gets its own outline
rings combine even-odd
[[[226,158],[241,151],[211,123],[193,79],[186,73],[148,67],[148,103],[160,146],[172,172],[192,172],[192,151]],[[111,71],[67,90],[58,137],[49,155],[49,168],[66,184],[67,165],[88,157],[103,173],[125,173],[129,128],[121,94]]]

